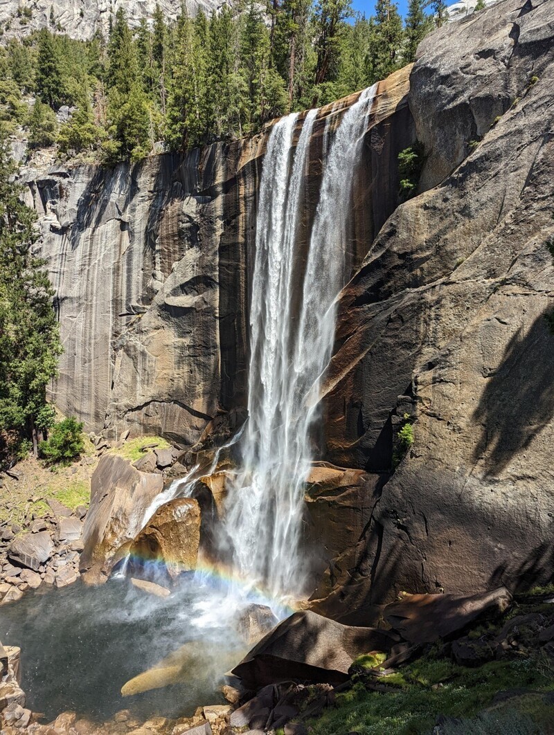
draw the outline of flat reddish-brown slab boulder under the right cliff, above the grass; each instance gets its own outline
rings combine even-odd
[[[476,620],[495,617],[511,605],[505,587],[480,595],[405,595],[385,608],[385,620],[411,643],[448,638]]]

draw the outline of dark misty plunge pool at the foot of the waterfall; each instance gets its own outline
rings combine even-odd
[[[68,709],[93,720],[120,709],[143,719],[189,716],[224,701],[224,673],[248,648],[235,633],[232,600],[218,594],[195,583],[156,598],[126,580],[39,587],[0,608],[0,641],[21,646],[26,706],[49,719]],[[192,653],[180,681],[121,695],[129,679],[183,645]]]

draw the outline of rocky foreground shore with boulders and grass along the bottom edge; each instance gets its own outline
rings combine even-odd
[[[506,708],[515,723],[514,731],[527,733],[530,722],[534,725],[529,732],[553,732],[548,723],[553,722],[550,716],[554,714],[554,589],[516,600],[504,588],[472,596],[403,595],[387,606],[383,625],[352,628],[313,612],[294,613],[272,628],[235,667],[234,678],[228,680],[232,684],[221,688],[227,704],[200,706],[192,717],[177,719],[141,720],[129,709],[122,709],[103,723],[75,711],[65,711],[44,723],[43,715],[25,707],[20,648],[0,648],[4,669],[1,734],[385,732],[348,729],[352,700],[369,708],[386,708],[414,692],[429,698],[423,720],[419,714],[422,722],[432,723],[435,735],[458,732],[458,726],[462,727],[459,732],[480,732],[470,723],[476,728],[490,712],[500,723]],[[426,674],[423,678],[422,672]],[[469,684],[473,680],[472,688]],[[462,689],[467,702],[460,694],[461,681],[465,682]],[[458,692],[456,716],[449,700],[452,692]],[[360,706],[354,711],[359,715]],[[342,721],[341,714],[344,727],[336,724]],[[410,731],[430,733],[431,729]],[[393,727],[386,731],[404,730]]]

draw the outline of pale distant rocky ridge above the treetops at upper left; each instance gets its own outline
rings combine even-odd
[[[156,4],[160,5],[166,21],[171,21],[180,15],[183,4],[195,15],[197,10],[207,13],[216,10],[225,0],[2,0],[0,26],[4,29],[4,39],[51,28],[77,40],[90,40],[98,31],[107,36],[110,18],[120,8],[125,11],[129,25],[136,27],[143,18],[147,21],[152,18]]]

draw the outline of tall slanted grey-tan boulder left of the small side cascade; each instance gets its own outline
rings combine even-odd
[[[143,526],[144,514],[163,490],[163,478],[141,473],[117,455],[104,455],[90,480],[80,559],[82,578],[102,584],[110,576],[118,549]]]

